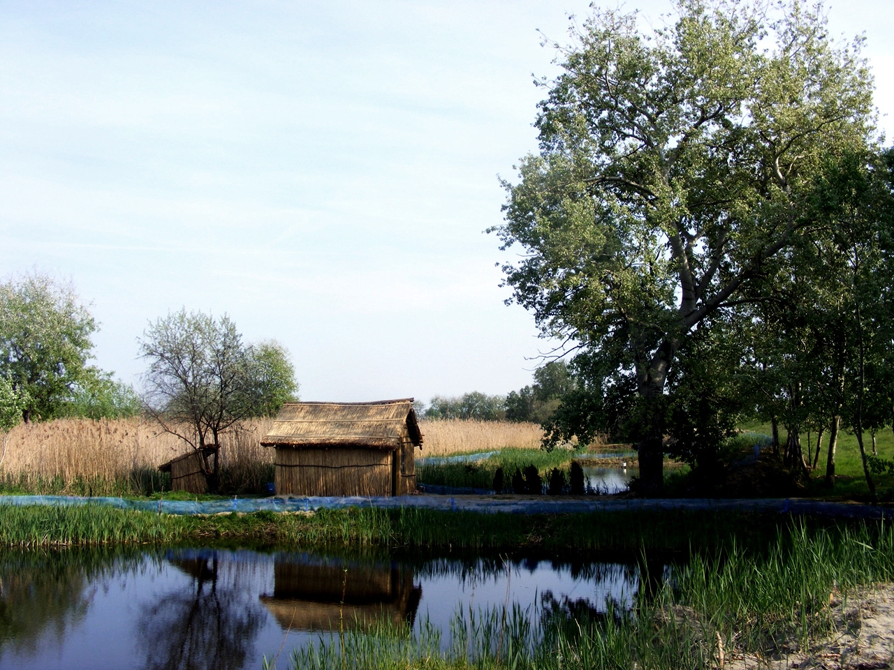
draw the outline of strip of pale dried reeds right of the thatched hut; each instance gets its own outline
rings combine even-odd
[[[544,431],[538,423],[509,421],[420,421],[423,456],[451,456],[507,447],[536,449]]]

